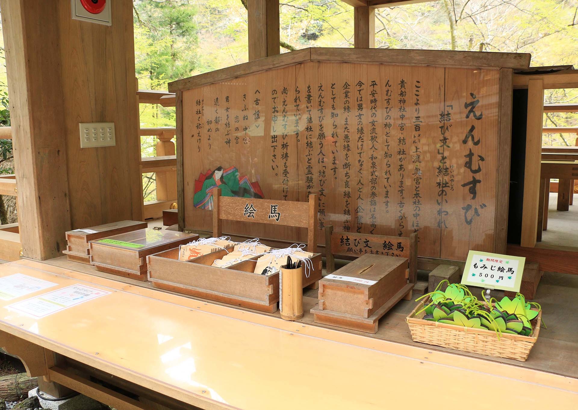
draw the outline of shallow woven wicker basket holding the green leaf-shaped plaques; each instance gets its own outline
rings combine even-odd
[[[531,322],[532,336],[502,333],[498,339],[497,334],[492,330],[473,329],[472,327],[424,320],[422,318],[425,312],[421,312],[416,316],[416,312],[422,310],[424,305],[428,303],[429,299],[421,301],[405,319],[407,325],[409,325],[409,330],[412,332],[414,342],[442,346],[462,352],[525,361],[530,354],[532,346],[538,339],[542,312]]]

